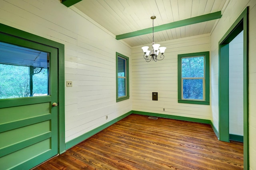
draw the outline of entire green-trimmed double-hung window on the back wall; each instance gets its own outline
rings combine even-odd
[[[209,52],[178,55],[178,102],[210,104]]]

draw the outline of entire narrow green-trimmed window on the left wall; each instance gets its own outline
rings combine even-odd
[[[129,98],[129,58],[116,53],[116,101]]]

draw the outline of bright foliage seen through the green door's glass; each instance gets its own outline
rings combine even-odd
[[[48,94],[48,74],[43,68],[34,74],[32,96]],[[0,99],[23,98],[30,96],[30,75],[28,66],[0,64]]]

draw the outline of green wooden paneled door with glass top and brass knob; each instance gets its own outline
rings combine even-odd
[[[41,55],[46,56],[44,61],[40,61]],[[28,97],[16,94],[6,97],[4,92],[10,86],[0,87],[0,170],[30,169],[58,154],[58,106],[52,106],[54,102],[58,103],[58,50],[0,33],[0,64],[0,72],[9,66],[34,68],[32,75],[41,68],[45,70],[46,94],[33,92]],[[19,70],[16,73],[20,76]],[[31,70],[28,76],[33,77],[30,73]],[[14,73],[10,74],[13,76]],[[16,81],[6,79],[1,81]],[[40,83],[42,85],[40,79],[34,86],[31,81],[25,86],[30,88],[30,93]]]

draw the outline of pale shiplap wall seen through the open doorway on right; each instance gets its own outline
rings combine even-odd
[[[229,43],[229,133],[244,135],[244,31]]]

